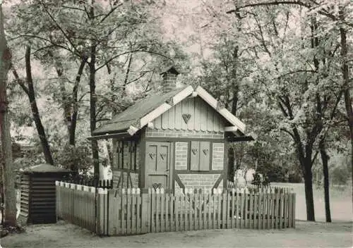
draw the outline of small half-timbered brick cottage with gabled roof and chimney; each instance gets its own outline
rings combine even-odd
[[[92,133],[90,139],[113,139],[114,187],[226,187],[227,145],[253,140],[205,89],[176,88],[178,74],[174,67],[165,70],[162,92]]]

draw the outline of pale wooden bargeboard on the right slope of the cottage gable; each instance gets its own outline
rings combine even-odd
[[[235,127],[237,127],[240,132],[245,133],[246,125],[237,117],[235,117],[232,113],[230,113],[227,109],[220,108],[220,104],[217,104],[217,100],[212,97],[208,92],[206,92],[203,87],[198,86],[196,88],[196,92],[198,93],[199,97],[201,97],[210,106],[212,106],[213,109],[220,113],[220,115],[223,116],[226,120],[228,120],[229,123],[232,123]]]

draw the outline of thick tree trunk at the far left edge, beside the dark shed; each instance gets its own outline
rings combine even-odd
[[[5,32],[4,16],[0,4],[0,135],[1,154],[3,162],[2,182],[5,196],[5,223],[16,226],[16,190],[15,175],[13,173],[13,159],[11,149],[10,119],[8,116],[8,101],[6,96],[6,81],[11,66],[11,51],[8,49]]]

